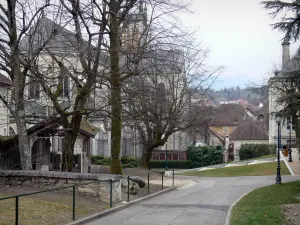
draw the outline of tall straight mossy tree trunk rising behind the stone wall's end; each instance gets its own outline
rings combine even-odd
[[[120,74],[120,34],[118,25],[118,3],[110,3],[110,71],[111,71],[111,166],[110,173],[122,174],[121,148],[121,74]]]

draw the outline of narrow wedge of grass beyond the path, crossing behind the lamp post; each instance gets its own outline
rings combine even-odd
[[[267,176],[275,175],[277,162],[262,163],[247,166],[232,166],[226,168],[180,173],[184,176],[203,177],[238,177],[238,176]],[[281,174],[290,175],[284,162],[281,162]]]

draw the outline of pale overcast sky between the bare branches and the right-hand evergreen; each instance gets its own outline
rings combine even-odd
[[[258,0],[193,0],[193,15],[181,16],[184,26],[210,49],[211,65],[225,66],[215,88],[262,83],[281,65],[282,33]],[[291,55],[297,44],[291,45]]]

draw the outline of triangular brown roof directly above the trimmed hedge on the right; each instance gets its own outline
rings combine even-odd
[[[267,132],[263,131],[250,118],[245,119],[230,135],[230,140],[268,140]]]

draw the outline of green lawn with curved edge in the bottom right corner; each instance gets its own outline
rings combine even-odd
[[[300,181],[256,189],[233,207],[230,225],[290,224],[280,206],[300,203],[299,193]]]

